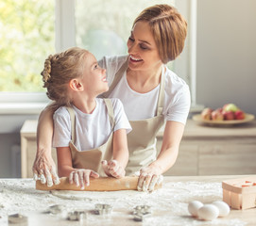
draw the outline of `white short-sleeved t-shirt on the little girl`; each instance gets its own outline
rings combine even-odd
[[[126,129],[129,133],[131,127],[121,101],[113,98],[111,102],[115,121],[113,131]],[[111,122],[104,100],[96,98],[96,106],[92,114],[85,114],[74,105],[72,107],[76,117],[77,150],[92,150],[104,144],[111,135]],[[65,106],[58,108],[53,120],[53,147],[68,147],[71,140],[71,120],[67,108]]]

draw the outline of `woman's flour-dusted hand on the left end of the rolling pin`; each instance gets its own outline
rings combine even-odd
[[[56,172],[56,166],[52,156],[46,155],[44,152],[38,153],[33,164],[34,180],[40,180],[42,184],[47,186],[60,184],[59,176]]]

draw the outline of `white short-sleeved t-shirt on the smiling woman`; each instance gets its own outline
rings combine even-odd
[[[128,56],[104,56],[98,63],[107,70],[109,86],[115,73],[126,61]],[[160,85],[147,93],[136,92],[128,86],[127,73],[112,90],[110,98],[121,100],[129,121],[139,121],[156,116]],[[176,73],[166,67],[164,106],[162,114],[165,121],[186,123],[191,104],[188,85]]]

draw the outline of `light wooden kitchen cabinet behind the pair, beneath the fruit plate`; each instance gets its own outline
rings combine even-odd
[[[36,154],[37,121],[25,121],[21,130],[22,177],[32,177]],[[158,134],[158,150],[162,131]],[[56,151],[53,149],[56,161]],[[56,162],[57,163],[57,162]],[[211,127],[188,120],[175,165],[164,175],[241,175],[256,173],[256,121]]]

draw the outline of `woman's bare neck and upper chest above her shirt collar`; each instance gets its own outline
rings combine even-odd
[[[155,89],[161,81],[162,66],[155,71],[127,71],[128,86],[134,91],[146,93]]]

